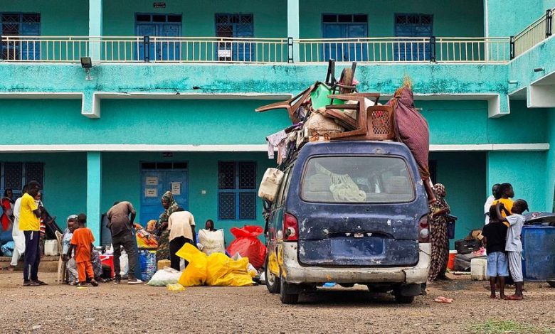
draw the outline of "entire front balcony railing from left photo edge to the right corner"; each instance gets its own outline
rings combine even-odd
[[[76,63],[502,63],[509,38],[189,38],[2,36],[1,60]]]

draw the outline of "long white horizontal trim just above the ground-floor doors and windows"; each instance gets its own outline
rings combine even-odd
[[[432,144],[430,151],[547,151],[548,143],[538,144]],[[0,145],[0,153],[12,152],[266,152],[265,144],[239,145],[159,145],[159,144],[43,144]]]

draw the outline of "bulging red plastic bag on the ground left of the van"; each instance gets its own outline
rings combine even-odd
[[[256,269],[264,265],[266,258],[266,247],[260,242],[258,236],[262,234],[260,226],[247,226],[243,228],[232,227],[231,234],[236,237],[228,246],[228,253],[233,255],[239,253],[241,257],[248,257],[248,262]]]

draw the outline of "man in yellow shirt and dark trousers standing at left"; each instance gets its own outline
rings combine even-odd
[[[31,181],[27,185],[27,193],[21,197],[19,211],[19,230],[25,235],[25,256],[23,266],[23,286],[46,285],[38,279],[38,264],[41,263],[41,248],[39,246],[41,224],[41,210],[35,202],[35,196],[41,190],[41,185]]]

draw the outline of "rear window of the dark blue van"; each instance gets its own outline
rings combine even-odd
[[[317,203],[403,203],[415,198],[402,158],[326,156],[307,161],[301,198]]]

